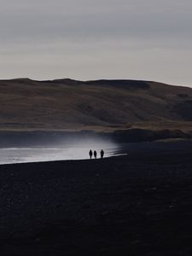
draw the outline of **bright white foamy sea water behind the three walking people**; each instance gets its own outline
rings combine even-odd
[[[96,150],[97,158],[100,158],[101,149],[104,157],[119,154],[116,146],[91,148]],[[25,148],[0,148],[0,165],[25,162],[39,162],[51,160],[84,160],[89,159],[88,147],[25,147]]]

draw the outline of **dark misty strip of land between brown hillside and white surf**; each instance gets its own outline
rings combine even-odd
[[[148,143],[159,140],[192,140],[192,131],[130,128],[113,131],[0,131],[0,148],[50,146],[86,142],[91,139],[114,143]]]

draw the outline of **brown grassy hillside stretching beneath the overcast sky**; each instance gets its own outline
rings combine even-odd
[[[1,130],[192,130],[192,89],[148,81],[0,80]]]

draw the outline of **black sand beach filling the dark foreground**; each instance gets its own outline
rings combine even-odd
[[[191,156],[0,166],[0,255],[192,255]]]

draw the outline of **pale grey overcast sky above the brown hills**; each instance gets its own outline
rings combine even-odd
[[[191,0],[0,0],[0,79],[192,86]]]

